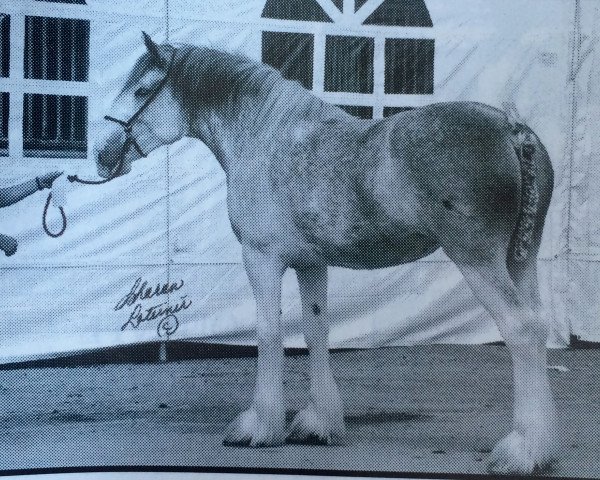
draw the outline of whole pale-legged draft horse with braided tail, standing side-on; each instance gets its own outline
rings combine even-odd
[[[225,172],[229,220],[256,300],[258,360],[252,404],[223,443],[343,440],[328,348],[328,266],[390,267],[441,248],[511,354],[513,426],[488,469],[550,467],[559,440],[536,256],[554,174],[539,137],[475,102],[358,119],[243,55],[159,44],[145,33],[144,43],[105,117],[111,123],[95,161],[111,179],[154,149],[193,137]],[[289,268],[299,284],[310,401],[286,429],[280,303]]]

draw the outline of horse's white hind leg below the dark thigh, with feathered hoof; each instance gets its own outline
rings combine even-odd
[[[535,258],[535,252],[532,255]],[[449,253],[452,258],[452,254]],[[547,325],[534,301],[534,271],[511,278],[506,254],[457,261],[475,296],[494,317],[510,349],[514,376],[513,431],[490,455],[495,473],[530,474],[547,468],[557,449],[556,412],[546,366]],[[530,267],[533,260],[529,262]],[[524,267],[526,268],[526,267]],[[519,286],[527,291],[520,291]],[[529,287],[526,287],[529,285]]]

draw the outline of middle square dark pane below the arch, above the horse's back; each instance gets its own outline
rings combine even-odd
[[[372,38],[327,36],[325,91],[373,93]]]

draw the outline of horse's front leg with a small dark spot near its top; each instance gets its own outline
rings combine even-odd
[[[298,412],[287,440],[329,444],[344,434],[344,414],[329,363],[327,324],[327,267],[296,270],[302,299],[304,338],[310,352],[309,405]]]

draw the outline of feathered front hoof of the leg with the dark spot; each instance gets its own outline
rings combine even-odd
[[[332,445],[345,436],[342,415],[319,415],[313,406],[298,412],[287,432],[286,442]]]

